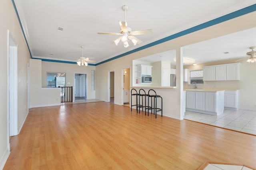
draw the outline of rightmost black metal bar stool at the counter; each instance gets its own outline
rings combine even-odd
[[[149,107],[149,98],[151,98],[151,107]],[[154,99],[154,103],[152,103],[152,98]],[[157,98],[161,98],[161,108],[157,107]],[[156,91],[153,89],[148,90],[148,112],[150,109],[151,109],[151,114],[153,109],[154,114],[157,113],[158,111],[161,111],[161,117],[163,116],[163,98],[160,95],[157,95]]]

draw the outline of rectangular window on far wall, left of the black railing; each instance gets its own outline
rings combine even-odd
[[[65,87],[66,73],[47,72],[47,87]]]

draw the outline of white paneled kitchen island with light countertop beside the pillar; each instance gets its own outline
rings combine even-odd
[[[225,90],[184,89],[186,91],[186,111],[195,111],[210,115],[224,112]]]

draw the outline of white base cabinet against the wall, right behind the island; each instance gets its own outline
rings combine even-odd
[[[224,107],[225,109],[238,110],[239,109],[239,90],[226,90],[224,92]]]

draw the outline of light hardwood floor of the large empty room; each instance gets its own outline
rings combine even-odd
[[[110,102],[29,110],[4,170],[196,170],[206,161],[256,167],[256,137],[154,118]]]

